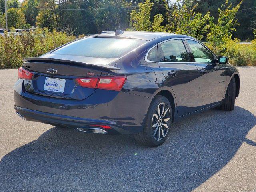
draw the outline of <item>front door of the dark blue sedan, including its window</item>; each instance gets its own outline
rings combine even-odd
[[[216,58],[206,46],[196,40],[186,39],[194,64],[199,70],[200,90],[198,109],[205,108],[223,99],[226,88],[226,71],[223,64],[216,63]]]

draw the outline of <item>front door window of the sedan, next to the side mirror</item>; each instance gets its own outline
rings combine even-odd
[[[188,44],[192,50],[195,61],[198,63],[214,63],[215,59],[212,53],[202,44],[188,39]]]

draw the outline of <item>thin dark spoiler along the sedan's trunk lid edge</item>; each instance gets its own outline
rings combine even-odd
[[[29,58],[24,58],[23,62],[40,62],[40,61],[53,61],[53,62],[62,62],[62,63],[67,63],[67,64],[76,64],[78,66],[93,66],[96,68],[104,68],[108,70],[120,70],[120,68],[110,66],[110,65],[102,65],[102,64],[88,64],[88,63],[83,63],[83,62],[77,62],[77,61],[71,61],[71,60],[63,60],[63,59],[54,59],[54,58],[43,58],[43,57],[29,57]]]

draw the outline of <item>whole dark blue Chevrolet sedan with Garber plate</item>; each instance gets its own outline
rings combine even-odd
[[[238,70],[190,36],[107,32],[25,58],[14,109],[25,120],[98,134],[134,134],[159,146],[172,122],[214,107],[231,111]]]

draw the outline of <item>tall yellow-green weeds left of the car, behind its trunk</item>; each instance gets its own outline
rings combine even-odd
[[[0,68],[18,68],[22,66],[22,59],[38,57],[75,39],[64,32],[49,32],[47,28],[23,33],[0,36]]]

